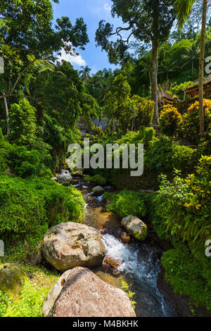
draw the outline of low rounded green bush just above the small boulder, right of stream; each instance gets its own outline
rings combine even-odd
[[[113,211],[123,218],[124,216],[132,215],[143,217],[146,215],[146,207],[139,192],[123,190],[111,196],[112,201],[107,207],[108,211]]]

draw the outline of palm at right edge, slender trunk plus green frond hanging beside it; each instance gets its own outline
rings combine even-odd
[[[179,27],[182,27],[188,18],[191,8],[196,0],[176,0],[174,5],[177,11],[177,20]],[[203,82],[204,82],[204,58],[205,58],[205,37],[207,21],[207,0],[203,0],[203,18],[200,37],[200,56],[198,69],[198,101],[200,118],[200,135],[204,134],[204,111],[203,111]]]

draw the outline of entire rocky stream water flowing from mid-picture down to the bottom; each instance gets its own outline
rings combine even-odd
[[[77,182],[78,180],[78,182]],[[81,190],[87,202],[85,224],[96,230],[107,228],[119,229],[120,220],[105,210],[103,196],[94,196],[91,188],[94,183],[83,182],[82,177],[76,177],[73,186]],[[104,187],[110,190],[112,187]],[[87,199],[89,197],[89,199]],[[90,199],[91,197],[91,199]],[[161,317],[177,316],[177,312],[167,304],[164,296],[157,288],[157,278],[160,270],[160,248],[137,242],[135,239],[129,244],[123,244],[120,239],[109,233],[101,235],[106,247],[106,256],[116,261],[122,261],[119,266],[120,274],[117,276],[108,273],[103,266],[94,268],[93,271],[105,282],[115,287],[122,287],[122,280],[127,282],[129,289],[134,292],[133,300],[136,301],[136,316]]]

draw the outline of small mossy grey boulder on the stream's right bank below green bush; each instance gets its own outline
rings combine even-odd
[[[127,232],[138,240],[145,240],[147,236],[147,226],[142,220],[135,216],[126,216],[122,218],[121,225]]]

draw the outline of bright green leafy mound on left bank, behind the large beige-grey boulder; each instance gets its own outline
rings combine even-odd
[[[80,221],[84,199],[74,187],[63,187],[53,180],[18,177],[0,178],[0,233],[11,242],[14,238],[38,238],[49,226]]]

